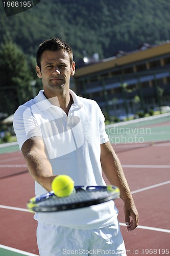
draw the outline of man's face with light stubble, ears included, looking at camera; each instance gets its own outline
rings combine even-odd
[[[70,66],[69,55],[64,50],[44,51],[41,55],[41,70],[36,66],[37,75],[42,78],[45,95],[55,94],[69,88],[70,76],[75,74],[75,62]]]

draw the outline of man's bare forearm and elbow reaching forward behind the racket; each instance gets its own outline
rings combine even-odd
[[[35,181],[43,186],[47,191],[51,191],[53,179],[52,166],[46,158],[44,143],[40,137],[33,137],[23,143],[21,148],[28,169]]]

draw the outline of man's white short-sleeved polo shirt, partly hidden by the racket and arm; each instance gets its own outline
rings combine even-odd
[[[108,141],[104,116],[95,101],[71,90],[70,94],[74,103],[68,116],[46,99],[43,90],[19,106],[13,121],[19,147],[27,139],[40,136],[54,175],[68,175],[75,185],[106,185],[100,162],[100,144]],[[44,193],[46,190],[35,182],[36,196]],[[34,218],[71,228],[96,229],[114,223],[117,214],[114,202],[109,201],[76,210],[36,213]]]

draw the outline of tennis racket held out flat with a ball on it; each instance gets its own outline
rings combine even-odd
[[[27,203],[27,208],[35,212],[71,210],[101,204],[116,199],[119,195],[119,188],[112,185],[75,186],[74,192],[68,197],[59,198],[53,191],[33,197]]]

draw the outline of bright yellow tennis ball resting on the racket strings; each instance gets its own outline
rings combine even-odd
[[[57,197],[68,197],[74,190],[74,181],[67,175],[58,175],[52,182],[52,190]]]

